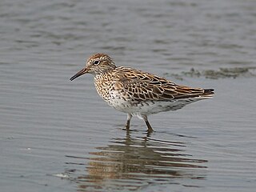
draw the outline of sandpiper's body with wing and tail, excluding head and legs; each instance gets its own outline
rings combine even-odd
[[[98,94],[110,106],[131,114],[177,110],[214,94],[213,89],[179,86],[166,78],[122,66],[96,76],[94,82]]]

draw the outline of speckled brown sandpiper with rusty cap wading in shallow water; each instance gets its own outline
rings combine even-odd
[[[142,70],[116,66],[109,55],[102,53],[91,55],[86,66],[70,81],[82,74],[93,74],[94,86],[103,100],[127,114],[126,130],[130,130],[131,118],[137,116],[145,121],[151,133],[154,130],[148,115],[179,110],[191,102],[214,96],[214,89],[182,86]]]

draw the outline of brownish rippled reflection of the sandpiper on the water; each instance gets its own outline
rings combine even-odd
[[[78,191],[138,190],[152,183],[179,184],[178,178],[205,178],[207,161],[192,158],[185,148],[183,142],[157,140],[149,134],[132,138],[127,131],[125,138],[112,138],[108,146],[90,153],[87,173],[75,178]]]

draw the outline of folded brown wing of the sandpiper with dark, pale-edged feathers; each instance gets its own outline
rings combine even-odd
[[[140,70],[122,68],[116,74],[118,89],[130,95],[136,101],[166,101],[180,98],[210,97],[210,90],[178,86],[165,78],[148,74]],[[205,95],[204,95],[205,94]]]

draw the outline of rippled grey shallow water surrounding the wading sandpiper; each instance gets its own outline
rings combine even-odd
[[[1,190],[254,191],[255,9],[1,1]],[[98,97],[92,76],[69,81],[95,52],[216,95],[150,116],[150,135],[136,118],[126,132],[126,114]]]

